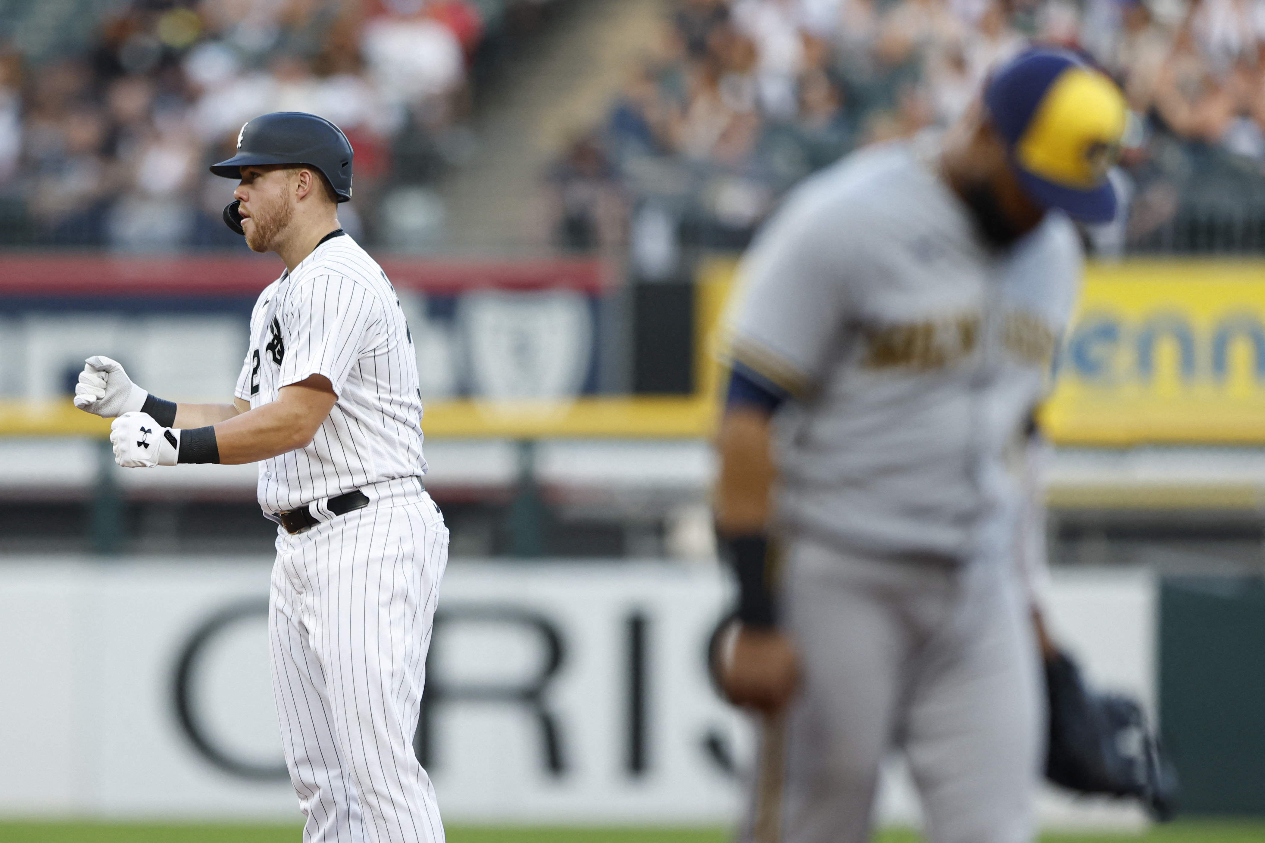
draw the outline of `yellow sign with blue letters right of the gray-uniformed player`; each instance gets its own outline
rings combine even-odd
[[[1090,267],[1044,421],[1064,444],[1265,444],[1265,264]]]

